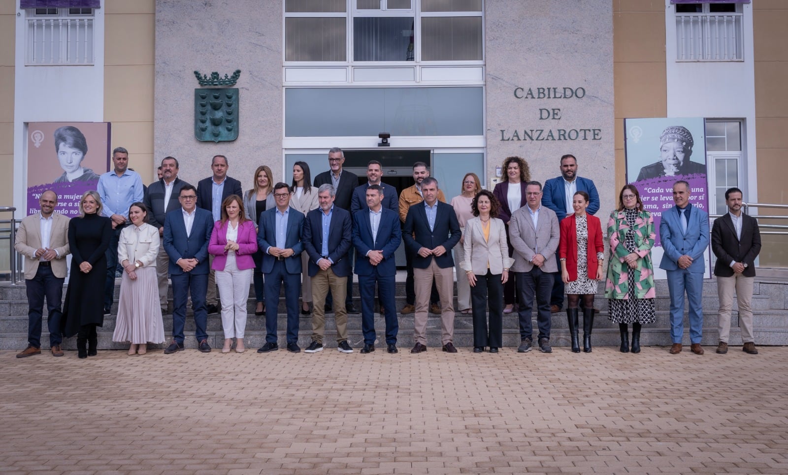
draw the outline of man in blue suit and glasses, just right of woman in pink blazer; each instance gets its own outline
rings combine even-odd
[[[298,353],[298,296],[301,293],[301,232],[303,214],[290,208],[290,187],[278,182],[273,186],[276,208],[260,215],[257,244],[262,252],[261,271],[266,274],[266,344],[258,353],[274,352],[277,343],[277,302],[284,282],[284,302],[288,308],[288,352]]]

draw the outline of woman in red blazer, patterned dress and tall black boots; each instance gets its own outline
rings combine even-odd
[[[589,215],[589,195],[585,191],[574,193],[572,208],[574,215],[561,221],[561,237],[558,256],[561,260],[561,280],[567,288],[567,319],[572,337],[572,352],[580,352],[578,342],[578,303],[583,298],[583,352],[591,352],[591,330],[593,330],[593,296],[597,293],[597,281],[604,278],[602,264],[604,243],[602,223]]]

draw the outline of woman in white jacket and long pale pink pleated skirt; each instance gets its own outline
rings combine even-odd
[[[148,224],[145,204],[128,208],[132,226],[121,230],[117,262],[123,266],[121,296],[112,341],[130,341],[128,355],[144,355],[147,343],[164,343],[162,307],[158,304],[158,229]]]

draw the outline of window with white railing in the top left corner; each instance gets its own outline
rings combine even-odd
[[[93,64],[94,9],[25,9],[28,65]]]

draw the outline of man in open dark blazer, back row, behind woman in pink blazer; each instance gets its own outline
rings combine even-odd
[[[232,194],[243,198],[241,182],[227,176],[229,164],[224,155],[215,155],[210,160],[210,169],[214,171],[213,176],[197,182],[197,207],[203,208],[214,215],[214,223],[221,219],[221,202]],[[214,262],[214,256],[210,256],[209,266]],[[208,295],[206,295],[206,307],[208,315],[217,313],[216,306],[216,277],[214,271],[208,274]]]

